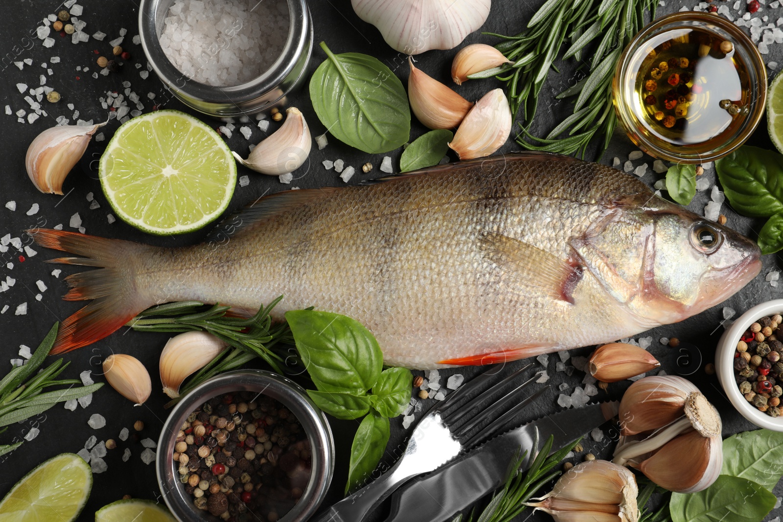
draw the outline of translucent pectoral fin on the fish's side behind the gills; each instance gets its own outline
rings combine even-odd
[[[482,239],[482,250],[485,257],[515,282],[543,290],[558,301],[574,304],[572,293],[583,275],[583,267],[575,258],[563,260],[502,234],[487,234]]]

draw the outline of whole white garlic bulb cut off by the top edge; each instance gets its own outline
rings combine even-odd
[[[406,55],[453,49],[482,27],[491,0],[352,0],[359,18]]]

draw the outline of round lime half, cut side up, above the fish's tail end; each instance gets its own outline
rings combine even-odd
[[[207,124],[179,110],[157,110],[117,129],[99,177],[121,219],[152,234],[182,234],[226,210],[236,163]]]

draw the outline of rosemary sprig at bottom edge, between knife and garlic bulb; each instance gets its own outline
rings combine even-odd
[[[561,448],[561,450],[547,457],[552,450],[554,437],[550,435],[541,451],[538,451],[539,438],[536,433],[531,448],[531,455],[535,455],[535,458],[529,469],[526,472],[521,470],[521,465],[525,461],[525,455],[527,455],[527,452],[525,452],[515,460],[512,469],[516,471],[511,473],[511,477],[508,478],[503,489],[493,495],[489,504],[482,510],[482,514],[478,517],[477,522],[511,522],[511,520],[514,520],[519,513],[522,513],[527,508],[524,503],[528,502],[536,494],[536,491],[560,475],[560,471],[552,470],[561,463],[562,459],[565,459],[565,455],[568,455],[568,452],[579,443],[579,440],[581,439],[573,441],[571,444],[566,445],[565,448]],[[462,514],[459,514],[451,522],[462,522],[462,518]],[[474,513],[471,513],[467,522],[473,522],[473,520]]]

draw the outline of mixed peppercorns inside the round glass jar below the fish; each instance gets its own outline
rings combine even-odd
[[[211,398],[177,434],[173,458],[193,505],[229,522],[276,522],[310,479],[310,445],[298,419],[272,398]]]

